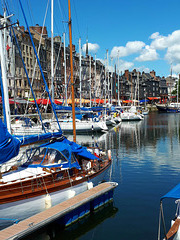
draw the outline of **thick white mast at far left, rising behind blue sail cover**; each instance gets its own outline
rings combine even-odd
[[[6,17],[4,18],[6,21]],[[4,22],[6,24],[6,22]],[[0,26],[2,26],[2,22],[0,23]],[[4,47],[3,47],[3,37],[2,37],[2,30],[0,30],[0,60],[1,60],[1,72],[2,72],[2,85],[3,89],[1,89],[4,93],[4,118],[5,118],[5,124],[7,126],[7,129],[9,133],[11,133],[11,121],[10,121],[10,107],[9,107],[9,96],[8,96],[8,86],[7,86],[7,70],[6,70],[6,62],[4,59]]]

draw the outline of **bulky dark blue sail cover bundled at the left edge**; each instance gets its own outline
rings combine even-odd
[[[0,119],[0,164],[7,162],[19,153],[20,141],[13,137]]]

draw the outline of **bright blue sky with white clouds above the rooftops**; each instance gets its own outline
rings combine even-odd
[[[22,0],[29,25],[43,25],[48,0]],[[14,19],[24,25],[18,0],[9,0]],[[88,38],[90,53],[119,71],[155,70],[159,76],[180,73],[179,0],[71,0],[73,43],[78,51]],[[68,0],[54,0],[54,34],[68,33]],[[46,18],[50,36],[50,0]],[[66,37],[68,44],[68,34]]]

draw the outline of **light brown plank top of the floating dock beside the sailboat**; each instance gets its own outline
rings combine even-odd
[[[117,185],[113,183],[102,183],[86,192],[83,192],[73,198],[68,199],[50,209],[38,213],[18,224],[14,224],[0,231],[0,239],[19,239],[26,236],[37,229],[43,227],[50,222],[64,216],[73,209],[91,201],[92,199],[114,189]]]

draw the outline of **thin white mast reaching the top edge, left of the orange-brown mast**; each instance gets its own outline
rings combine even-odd
[[[54,102],[53,10],[54,10],[54,0],[51,0],[51,91],[52,91],[52,101]]]

